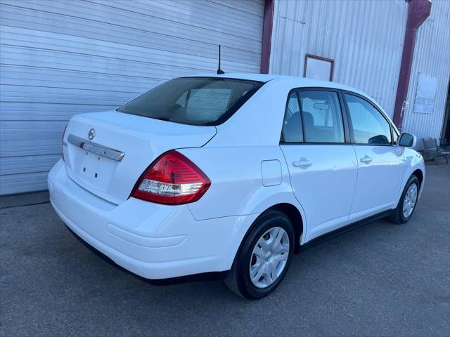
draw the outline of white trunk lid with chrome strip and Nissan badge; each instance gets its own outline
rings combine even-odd
[[[75,183],[120,204],[161,154],[201,147],[216,132],[214,126],[176,124],[116,111],[79,114],[65,132],[65,165]]]

